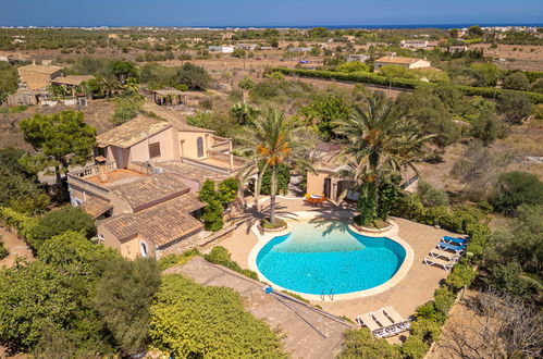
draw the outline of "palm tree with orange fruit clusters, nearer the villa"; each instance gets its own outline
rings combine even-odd
[[[301,158],[306,143],[299,141],[304,129],[284,112],[267,109],[261,113],[247,134],[247,147],[244,149],[251,157],[240,173],[258,173],[255,195],[258,199],[262,185],[263,173],[270,171],[270,223],[275,225],[275,195],[277,193],[277,169],[285,163],[291,166],[309,169],[311,164]]]

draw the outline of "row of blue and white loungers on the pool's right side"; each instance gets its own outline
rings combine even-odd
[[[469,237],[458,238],[444,236],[423,259],[427,265],[437,265],[445,271],[451,272],[453,267],[460,260],[461,256],[466,252]]]

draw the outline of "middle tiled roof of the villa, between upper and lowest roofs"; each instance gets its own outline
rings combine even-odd
[[[113,194],[125,200],[134,212],[187,194],[183,178],[173,173],[160,173],[139,181],[111,187]]]

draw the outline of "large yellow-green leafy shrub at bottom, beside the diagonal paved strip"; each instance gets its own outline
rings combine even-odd
[[[237,293],[177,274],[162,277],[149,336],[153,346],[176,358],[286,357],[274,332],[245,311]]]

